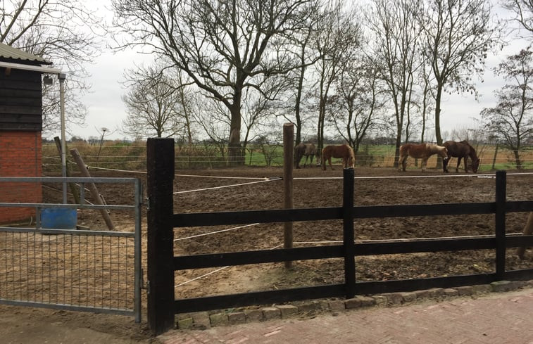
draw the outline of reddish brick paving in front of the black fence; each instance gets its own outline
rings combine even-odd
[[[172,330],[158,339],[164,344],[533,344],[533,288],[326,312],[311,319]]]

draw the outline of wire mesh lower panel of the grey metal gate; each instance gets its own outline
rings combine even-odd
[[[134,310],[134,234],[0,229],[0,300]]]

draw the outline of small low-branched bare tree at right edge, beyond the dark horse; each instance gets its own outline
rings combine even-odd
[[[533,52],[522,50],[509,56],[494,72],[513,83],[495,92],[497,105],[484,108],[482,117],[489,132],[513,151],[516,167],[520,169],[520,149],[533,139]]]

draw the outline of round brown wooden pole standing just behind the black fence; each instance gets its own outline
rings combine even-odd
[[[283,125],[283,187],[284,187],[284,208],[294,208],[292,192],[292,169],[294,157],[294,125],[285,123]],[[283,247],[292,248],[292,222],[284,223]],[[285,268],[292,267],[292,262],[285,262]]]

